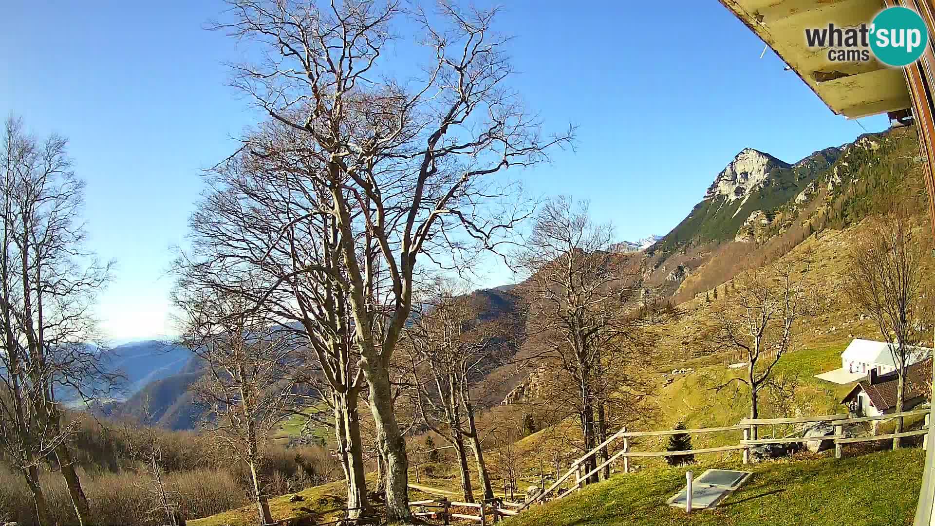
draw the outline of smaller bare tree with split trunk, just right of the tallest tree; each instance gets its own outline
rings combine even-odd
[[[494,498],[471,393],[485,373],[503,362],[515,323],[509,313],[484,320],[482,307],[479,298],[459,295],[452,285],[441,282],[434,299],[424,303],[406,332],[418,387],[416,406],[424,424],[454,447],[468,502],[474,502],[474,494],[466,441],[474,454],[483,498]]]

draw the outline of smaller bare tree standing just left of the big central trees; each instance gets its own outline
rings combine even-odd
[[[262,524],[271,523],[260,467],[269,434],[293,405],[297,347],[292,332],[256,314],[236,296],[177,292],[180,343],[204,362],[192,387],[204,406],[201,425],[219,449],[237,455],[250,473]]]

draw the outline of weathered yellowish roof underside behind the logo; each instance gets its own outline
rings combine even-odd
[[[809,48],[806,28],[870,23],[882,0],[721,0],[798,73],[835,113],[866,117],[912,107],[902,70],[870,62],[831,62]]]

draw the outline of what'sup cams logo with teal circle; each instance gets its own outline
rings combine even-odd
[[[867,62],[870,53],[887,66],[913,64],[928,45],[928,29],[918,13],[908,7],[887,7],[870,25],[805,30],[810,48],[827,48],[829,62]]]

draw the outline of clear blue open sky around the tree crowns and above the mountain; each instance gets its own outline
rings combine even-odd
[[[537,194],[589,198],[621,240],[669,232],[744,147],[788,162],[886,126],[827,107],[717,0],[509,0],[512,85],[576,152],[522,174]],[[157,7],[158,6],[158,7]],[[91,248],[117,261],[101,296],[115,340],[171,332],[170,247],[201,169],[257,114],[226,84],[242,49],[203,29],[220,1],[13,2],[0,31],[0,112],[71,140],[88,183]],[[392,57],[392,54],[391,54]],[[494,272],[488,283],[511,280]]]

